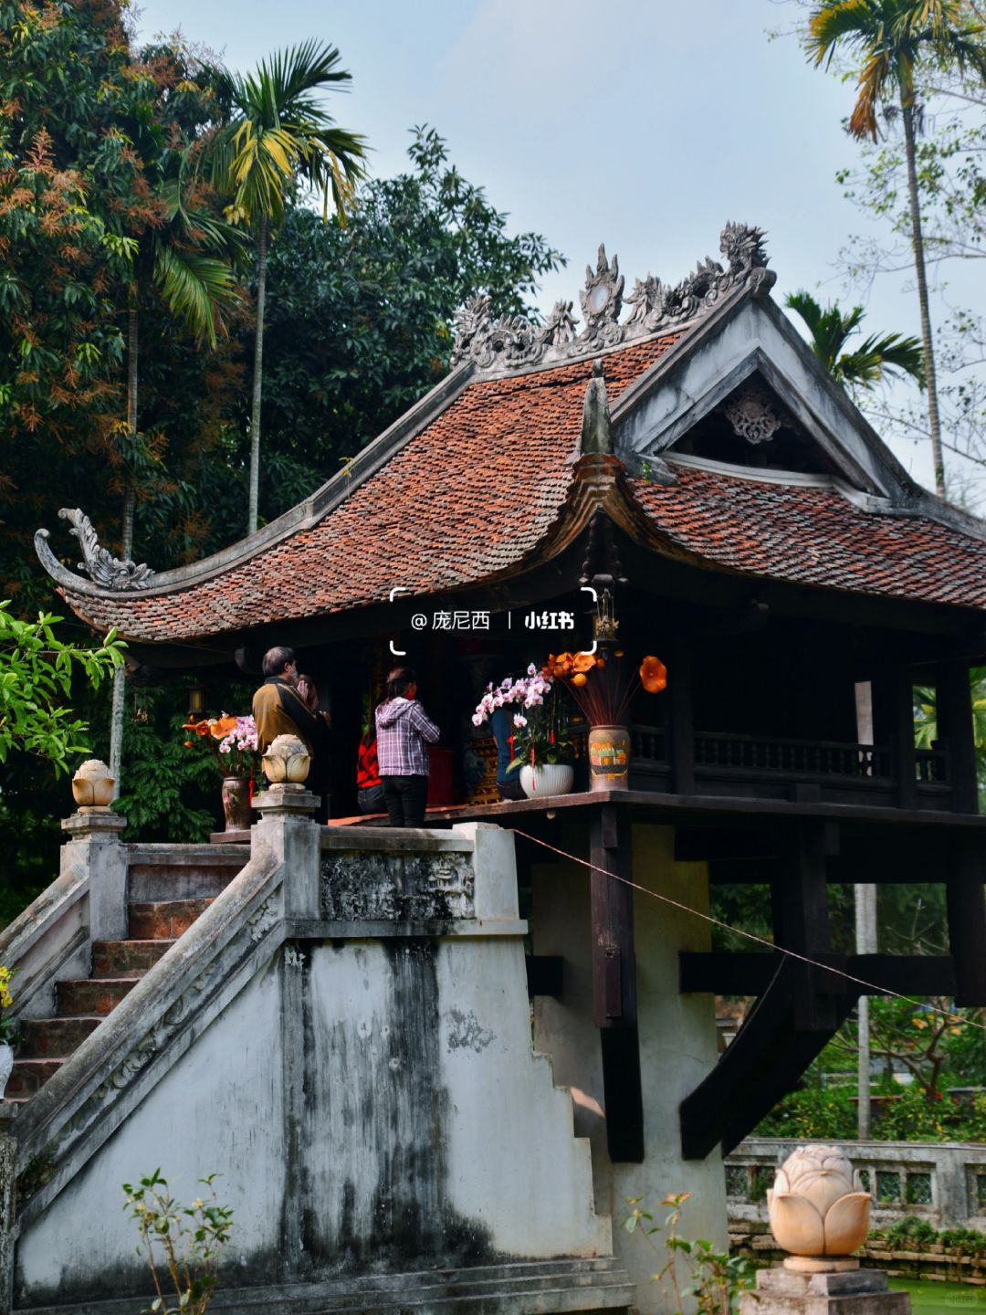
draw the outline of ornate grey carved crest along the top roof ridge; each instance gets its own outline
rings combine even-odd
[[[777,276],[766,268],[765,235],[763,229],[730,222],[719,235],[726,268],[707,256],[674,287],[648,274],[634,281],[634,291],[626,299],[619,262],[615,255],[609,260],[601,245],[596,270],[585,267],[585,287],[578,293],[585,320],[580,334],[572,301],[556,301],[547,321],[535,325],[525,316],[494,320],[489,295],[480,293],[456,316],[452,366],[471,360],[482,371],[510,371],[571,360],[674,329],[706,314],[739,288],[766,292]],[[624,300],[632,309],[621,323]]]

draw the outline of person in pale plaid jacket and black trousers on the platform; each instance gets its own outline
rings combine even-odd
[[[440,731],[418,702],[418,677],[396,667],[376,710],[376,752],[390,826],[423,826],[429,793],[429,744]]]

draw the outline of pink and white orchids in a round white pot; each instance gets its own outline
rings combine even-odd
[[[490,721],[500,709],[513,710],[509,769],[519,768],[523,793],[528,798],[568,794],[575,768],[568,761],[571,744],[559,731],[553,681],[531,663],[526,676],[506,676],[498,685],[486,685],[472,715],[473,726]]]

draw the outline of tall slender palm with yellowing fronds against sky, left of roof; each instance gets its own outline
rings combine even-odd
[[[260,485],[260,396],[263,388],[267,247],[284,217],[284,204],[297,180],[321,191],[327,217],[329,195],[337,212],[352,195],[363,170],[364,139],[337,128],[317,92],[351,80],[338,67],[339,51],[317,41],[264,59],[256,72],[231,80],[233,117],[212,146],[213,179],[233,196],[226,214],[248,222],[256,234],[256,337],[254,393],[250,409],[248,533],[256,530]]]

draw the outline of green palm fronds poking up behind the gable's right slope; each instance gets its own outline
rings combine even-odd
[[[811,350],[837,384],[845,388],[860,384],[872,388],[890,373],[901,372],[916,379],[924,387],[922,345],[918,338],[904,338],[887,333],[882,338],[870,334],[852,351],[844,351],[847,341],[861,331],[862,306],[843,310],[837,302],[822,308],[810,292],[791,292],[785,305],[805,321],[811,334]]]

